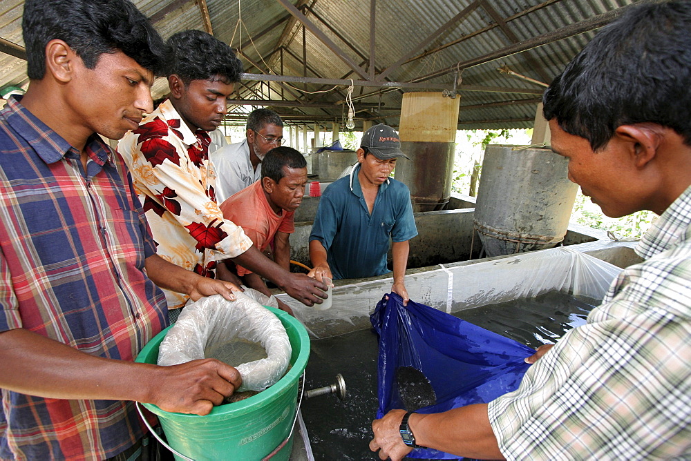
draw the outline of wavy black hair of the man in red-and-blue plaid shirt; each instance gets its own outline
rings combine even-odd
[[[21,20],[30,79],[46,75],[46,45],[60,39],[95,68],[104,53],[122,51],[154,75],[165,75],[165,42],[129,0],[26,0]]]

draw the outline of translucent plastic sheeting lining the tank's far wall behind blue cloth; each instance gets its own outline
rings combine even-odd
[[[612,242],[613,248],[631,246]],[[622,248],[624,249],[624,248]],[[439,269],[406,275],[410,299],[452,313],[486,304],[499,304],[549,291],[601,300],[621,268],[566,247],[520,253],[475,264],[444,264]],[[285,294],[295,316],[315,337],[330,337],[368,328],[369,315],[381,295],[390,291],[392,278],[334,287],[333,307],[317,311]]]

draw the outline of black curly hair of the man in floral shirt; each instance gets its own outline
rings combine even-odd
[[[201,30],[183,30],[168,39],[168,75],[176,74],[185,85],[193,80],[240,81],[243,63],[233,50]]]

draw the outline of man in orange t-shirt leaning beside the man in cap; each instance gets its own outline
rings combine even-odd
[[[290,270],[289,237],[295,230],[294,211],[305,195],[307,161],[294,148],[277,147],[269,150],[262,165],[261,180],[228,197],[220,210],[260,251],[274,242],[274,262]],[[259,275],[243,266],[236,266],[236,273],[245,286],[272,295]],[[278,307],[292,314],[285,303],[278,301]]]

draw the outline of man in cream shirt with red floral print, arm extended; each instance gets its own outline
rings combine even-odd
[[[242,228],[223,219],[216,204],[208,132],[227,113],[242,64],[229,46],[199,30],[178,32],[168,44],[170,97],[117,146],[131,170],[158,254],[211,278],[217,261],[233,259],[308,306],[321,302],[326,286],[270,261]],[[166,291],[166,298],[169,309],[189,300],[173,291]]]

